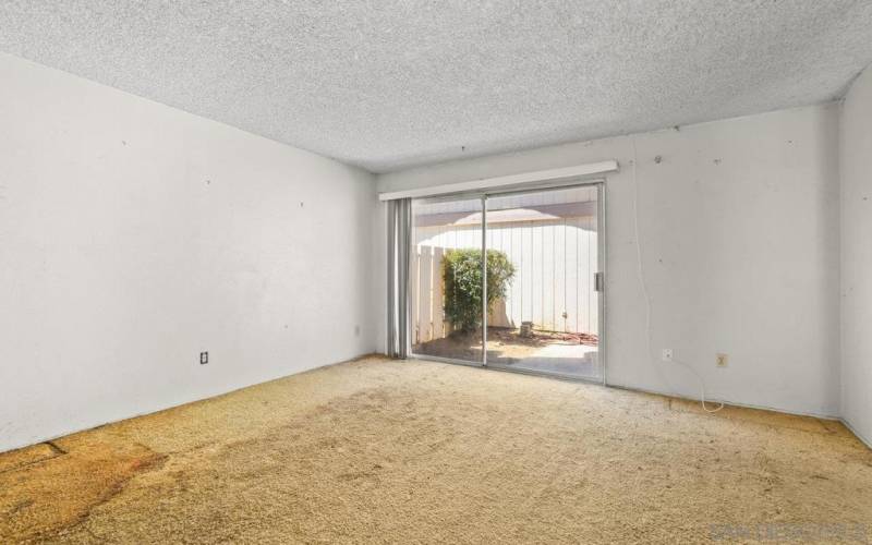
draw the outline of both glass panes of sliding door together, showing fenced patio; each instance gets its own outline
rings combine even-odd
[[[603,380],[602,191],[415,202],[413,354]]]

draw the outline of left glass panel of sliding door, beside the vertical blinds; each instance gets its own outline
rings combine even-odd
[[[412,353],[483,363],[483,201],[412,202]]]

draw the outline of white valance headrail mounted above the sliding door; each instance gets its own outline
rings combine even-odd
[[[618,161],[611,159],[576,167],[564,167],[559,169],[536,170],[533,172],[522,172],[520,174],[500,175],[496,178],[483,178],[467,182],[446,183],[441,185],[431,185],[415,190],[390,191],[379,193],[379,201],[393,201],[395,198],[407,197],[433,197],[436,195],[448,195],[451,193],[464,193],[475,190],[486,190],[493,187],[513,187],[528,183],[547,182],[552,180],[565,180],[569,178],[580,178],[595,174],[605,174],[618,171]]]

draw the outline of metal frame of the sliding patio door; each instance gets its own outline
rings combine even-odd
[[[596,256],[597,256],[597,274],[601,276],[600,282],[594,280],[595,286],[594,290],[598,293],[597,298],[597,316],[598,316],[598,342],[597,342],[597,358],[602,362],[603,368],[603,376],[598,380],[593,380],[590,378],[569,375],[565,373],[550,373],[550,372],[543,372],[543,371],[531,371],[531,370],[523,370],[523,368],[511,368],[507,366],[489,366],[487,365],[487,198],[488,197],[496,197],[496,196],[507,196],[507,195],[523,195],[526,193],[543,193],[550,190],[565,190],[565,189],[574,189],[574,187],[595,187],[596,189]],[[545,376],[545,377],[553,377],[559,378],[564,380],[572,380],[572,382],[581,382],[581,383],[594,383],[594,384],[608,384],[606,379],[606,372],[608,368],[607,365],[607,356],[606,356],[606,286],[608,278],[606,267],[607,267],[607,239],[606,239],[606,183],[604,179],[595,179],[595,180],[576,180],[576,181],[565,181],[565,182],[550,182],[550,183],[543,183],[543,184],[532,184],[530,186],[523,189],[509,189],[509,190],[488,190],[488,191],[475,191],[475,192],[463,192],[463,193],[456,193],[449,195],[438,195],[434,197],[417,197],[414,201],[425,201],[429,203],[435,202],[449,202],[449,201],[460,201],[460,199],[474,199],[480,198],[482,202],[482,361],[481,362],[472,362],[472,361],[464,361],[458,360],[453,358],[441,358],[435,355],[427,355],[427,354],[416,354],[410,351],[409,358],[413,360],[431,360],[444,363],[452,363],[459,365],[467,365],[470,367],[480,367],[480,368],[487,368],[494,371],[505,371],[507,373],[519,373],[523,375],[535,375],[535,376]],[[414,226],[412,226],[413,233],[414,233]],[[598,286],[600,289],[596,289]]]

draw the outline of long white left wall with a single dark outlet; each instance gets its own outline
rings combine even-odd
[[[371,174],[17,58],[0,81],[0,451],[375,349]]]

